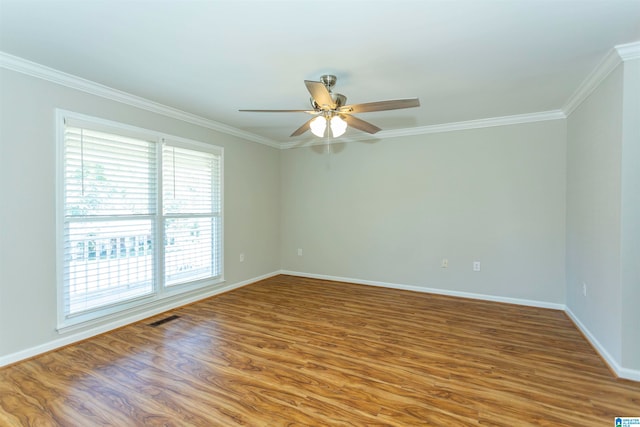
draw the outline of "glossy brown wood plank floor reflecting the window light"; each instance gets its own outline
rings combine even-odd
[[[152,327],[149,324],[177,315]],[[277,276],[0,370],[0,425],[613,426],[560,311]]]

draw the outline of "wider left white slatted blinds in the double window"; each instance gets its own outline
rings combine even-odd
[[[154,290],[156,144],[65,126],[65,313]]]

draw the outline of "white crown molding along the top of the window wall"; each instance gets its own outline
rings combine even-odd
[[[161,114],[166,117],[174,118],[183,122],[222,132],[224,134],[242,138],[247,141],[268,145],[269,147],[273,148],[280,148],[281,145],[280,143],[271,139],[264,138],[250,132],[245,132],[232,126],[228,126],[223,123],[219,123],[195,114],[187,113],[186,111],[169,107],[158,102],[150,101],[148,99],[135,96],[127,92],[113,89],[108,86],[74,76],[72,74],[64,73],[62,71],[37,64],[35,62],[31,62],[2,51],[0,51],[0,67],[46,80],[51,83],[66,86],[71,89],[79,90],[92,95],[97,95],[102,98],[110,99],[112,101],[121,102],[123,104],[150,111],[152,113]]]

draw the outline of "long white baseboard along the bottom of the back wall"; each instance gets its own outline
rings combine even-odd
[[[475,294],[470,292],[450,291],[446,289],[426,288],[423,286],[415,286],[415,285],[403,285],[398,283],[353,279],[350,277],[327,276],[325,274],[302,273],[299,271],[288,271],[288,270],[282,270],[280,271],[280,273],[288,274],[290,276],[309,277],[311,279],[333,280],[337,282],[355,283],[359,285],[380,286],[383,288],[402,289],[405,291],[416,291],[416,292],[424,292],[429,294],[448,295],[448,296],[461,297],[461,298],[472,298],[472,299],[478,299],[478,300],[484,300],[484,301],[505,302],[508,304],[526,305],[529,307],[551,308],[554,310],[564,310],[566,308],[564,304],[556,304],[556,303],[546,302],[546,301],[500,297],[495,295]]]

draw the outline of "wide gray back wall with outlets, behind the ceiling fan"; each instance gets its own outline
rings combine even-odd
[[[282,267],[563,304],[565,140],[556,120],[283,151]]]

